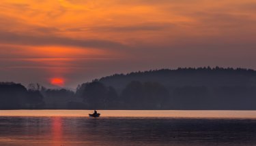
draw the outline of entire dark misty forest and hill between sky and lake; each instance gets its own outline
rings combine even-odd
[[[76,90],[0,82],[0,109],[255,110],[256,71],[221,67],[115,74]]]

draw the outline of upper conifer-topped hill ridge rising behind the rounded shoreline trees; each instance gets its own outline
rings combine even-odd
[[[251,69],[184,68],[115,74],[98,79],[107,86],[123,90],[130,81],[156,81],[167,88],[182,86],[256,86],[256,71]]]

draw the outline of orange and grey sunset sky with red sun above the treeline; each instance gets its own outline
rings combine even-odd
[[[256,69],[254,0],[1,0],[0,81],[76,88],[150,69]]]

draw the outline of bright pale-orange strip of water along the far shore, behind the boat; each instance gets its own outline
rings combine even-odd
[[[99,110],[100,117],[256,118],[256,111]],[[91,110],[2,110],[9,117],[88,117]],[[88,117],[89,118],[89,117]]]

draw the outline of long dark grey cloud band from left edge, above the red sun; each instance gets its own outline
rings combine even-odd
[[[16,45],[64,45],[76,46],[81,48],[107,48],[113,50],[122,50],[128,48],[127,45],[116,41],[100,39],[71,39],[68,37],[33,36],[26,34],[16,34],[6,31],[0,31],[0,43]]]

